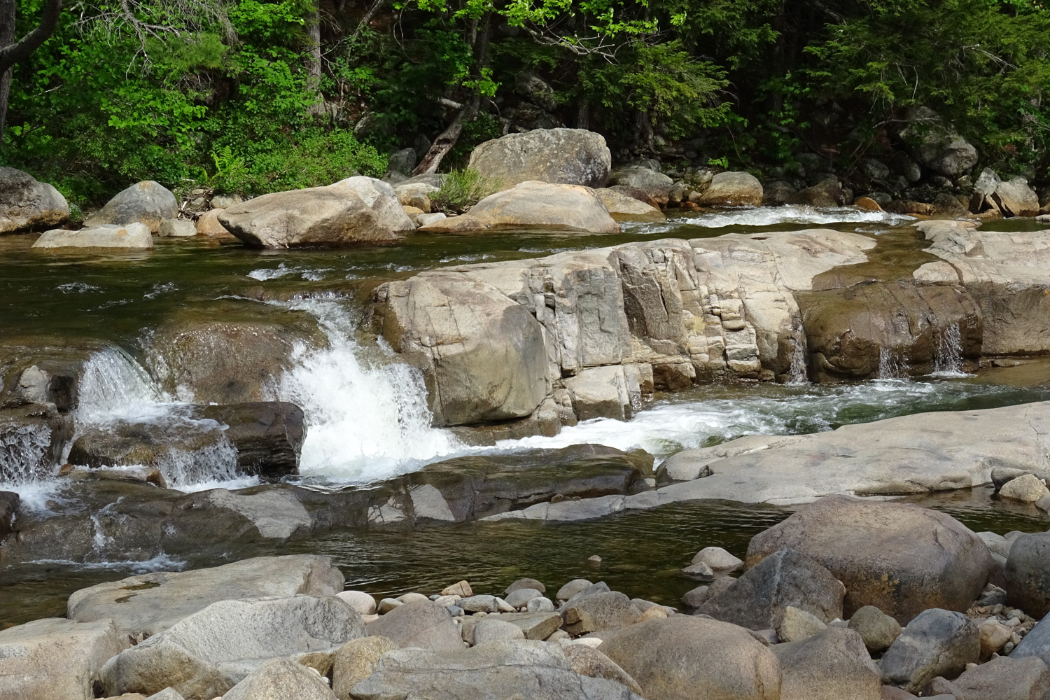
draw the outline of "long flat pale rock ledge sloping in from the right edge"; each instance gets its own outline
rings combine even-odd
[[[750,436],[678,452],[653,491],[541,503],[484,519],[580,521],[670,503],[792,505],[821,496],[902,495],[992,483],[993,468],[1050,470],[1050,402],[940,411],[808,436]],[[668,483],[673,482],[673,483]]]

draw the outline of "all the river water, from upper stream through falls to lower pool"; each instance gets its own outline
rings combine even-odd
[[[433,428],[418,373],[358,332],[361,299],[379,281],[449,264],[541,257],[664,237],[696,238],[729,232],[791,231],[820,225],[879,239],[872,266],[900,256],[922,257],[905,217],[852,209],[759,209],[692,215],[659,225],[628,226],[621,234],[502,232],[497,235],[416,235],[401,246],[338,251],[252,251],[236,242],[159,239],[152,251],[41,253],[33,236],[0,237],[0,339],[98,343],[80,387],[78,428],[116,420],[177,420],[193,400],[162,389],[151,331],[181,310],[226,300],[272,304],[314,316],[324,347],[306,342],[293,366],[273,378],[272,398],[300,405],[308,432],[302,481],[324,486],[358,484],[411,471],[448,457],[530,447],[601,443],[642,447],[657,460],[680,449],[754,433],[804,433],[846,423],[920,411],[958,410],[1050,399],[1043,384],[970,377],[960,372],[950,333],[941,339],[938,372],[928,378],[885,377],[856,384],[744,384],[698,386],[657,396],[629,422],[606,419],[565,428],[554,438],[503,441],[471,447],[450,431]],[[1007,224],[1005,227],[1018,226]],[[1020,224],[1020,226],[1026,226]],[[881,256],[881,257],[880,257]],[[211,305],[209,309],[213,307]],[[954,353],[954,355],[953,355]],[[801,377],[799,378],[801,380]],[[26,438],[28,441],[29,439]],[[45,503],[51,473],[27,470],[19,455],[33,446],[0,445],[0,490]],[[21,451],[19,451],[21,450]],[[234,457],[223,450],[172,459],[165,467],[181,490],[252,485],[233,475]],[[978,529],[1042,530],[1038,511],[1010,508],[976,490],[965,503],[931,502]],[[692,504],[630,513],[596,523],[542,526],[522,523],[465,524],[414,531],[337,530],[259,553],[317,552],[333,555],[351,587],[376,593],[441,588],[468,577],[483,589],[529,575],[559,586],[576,575],[605,578],[643,597],[673,602],[695,586],[678,575],[696,550],[723,546],[742,554],[756,532],[784,517],[780,508]],[[644,545],[644,546],[643,546]],[[231,553],[235,557],[251,552]],[[584,568],[590,554],[605,561]],[[0,563],[0,622],[61,614],[65,596],[83,586],[146,569],[207,566],[215,561],[108,563],[78,566],[39,563],[18,570]]]

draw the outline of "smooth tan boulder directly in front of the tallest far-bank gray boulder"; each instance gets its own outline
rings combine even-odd
[[[609,215],[594,190],[538,181],[525,181],[509,190],[490,194],[467,213],[434,221],[420,230],[470,233],[531,228],[591,233],[620,231],[620,225]]]

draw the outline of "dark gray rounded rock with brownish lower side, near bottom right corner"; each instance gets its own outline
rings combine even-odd
[[[922,692],[937,676],[957,676],[980,658],[976,622],[963,613],[934,608],[911,620],[882,655],[882,682]]]

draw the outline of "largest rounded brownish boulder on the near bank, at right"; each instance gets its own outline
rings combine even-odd
[[[902,624],[931,608],[965,611],[992,568],[988,547],[950,515],[844,495],[825,496],[755,535],[748,566],[785,548],[845,585],[846,617],[875,606]]]

